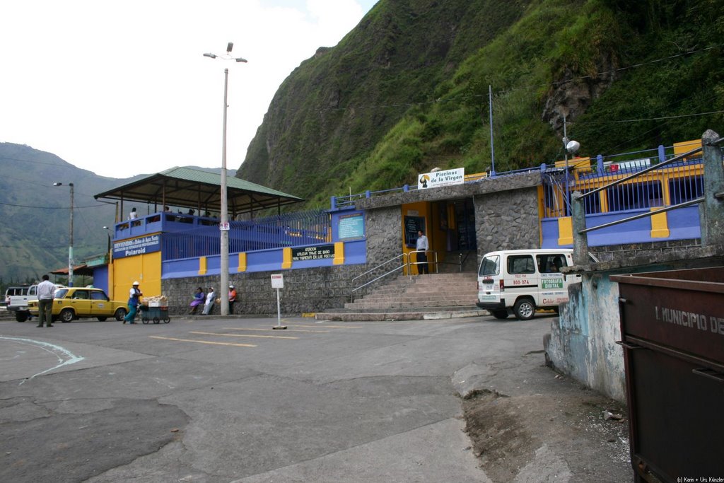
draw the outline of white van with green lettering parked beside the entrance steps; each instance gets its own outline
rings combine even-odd
[[[532,319],[536,308],[568,302],[568,285],[581,275],[564,277],[560,269],[573,265],[571,248],[503,250],[486,253],[478,269],[478,303],[495,318],[510,312],[518,319]]]

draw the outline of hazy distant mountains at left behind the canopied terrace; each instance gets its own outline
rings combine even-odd
[[[193,168],[221,172],[220,168]],[[103,227],[112,226],[116,219],[115,203],[102,203],[93,196],[147,176],[98,176],[54,154],[14,143],[0,143],[0,172],[0,286],[33,282],[68,265],[68,183],[73,183],[74,190],[73,252],[76,263],[81,263],[105,253],[109,232]],[[62,185],[54,186],[54,182]]]

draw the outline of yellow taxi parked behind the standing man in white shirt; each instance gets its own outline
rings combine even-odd
[[[38,316],[38,301],[28,302],[30,314]],[[55,291],[53,320],[72,322],[75,319],[96,317],[101,322],[126,316],[126,302],[111,301],[104,290],[90,287],[63,287]]]

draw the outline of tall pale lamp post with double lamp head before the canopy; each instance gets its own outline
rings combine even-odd
[[[216,55],[206,53],[203,54],[205,57],[211,59],[222,59],[222,60],[233,60],[235,62],[244,62],[247,60],[243,57],[232,57],[231,51],[234,48],[234,43],[229,42],[227,44],[226,55]],[[219,230],[221,230],[221,314],[229,315],[229,208],[227,201],[227,172],[226,172],[226,133],[227,133],[227,93],[229,91],[229,70],[224,69],[224,124],[222,127],[222,180],[221,180],[221,194],[222,194],[222,208],[220,213],[221,222],[219,223]]]

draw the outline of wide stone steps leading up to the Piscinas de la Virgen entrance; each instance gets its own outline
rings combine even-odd
[[[476,307],[474,272],[398,277],[345,308],[316,314],[318,320],[420,320],[487,315]]]

